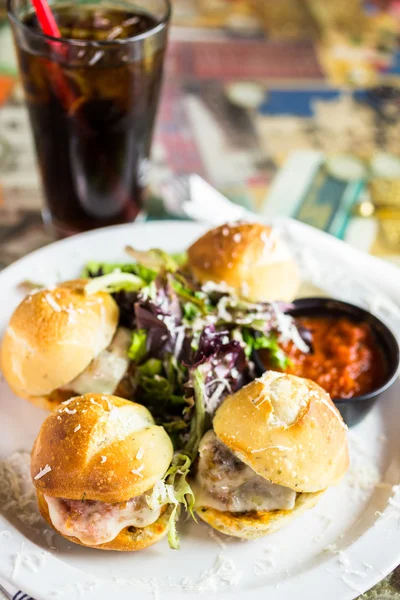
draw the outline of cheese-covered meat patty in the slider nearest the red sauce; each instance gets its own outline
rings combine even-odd
[[[197,506],[220,511],[291,510],[296,492],[260,477],[222,444],[213,431],[203,438],[195,483]]]

